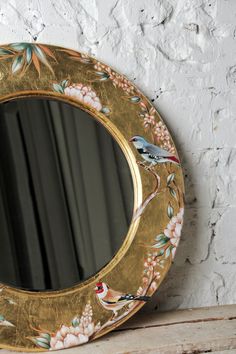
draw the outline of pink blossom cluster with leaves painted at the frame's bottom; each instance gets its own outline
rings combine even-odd
[[[74,347],[89,341],[101,325],[98,322],[96,325],[93,321],[93,310],[90,303],[87,303],[81,317],[75,317],[70,326],[62,325],[55,333],[43,333],[36,330],[39,335],[37,337],[29,337],[37,347],[43,349],[57,350]]]

